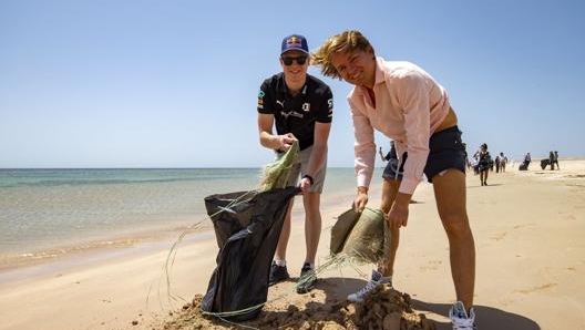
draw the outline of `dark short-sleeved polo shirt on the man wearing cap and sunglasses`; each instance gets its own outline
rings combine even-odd
[[[274,115],[276,133],[292,133],[299,140],[300,149],[305,149],[314,143],[315,122],[331,122],[333,94],[326,83],[307,74],[300,93],[292,96],[280,72],[260,85],[257,110]]]

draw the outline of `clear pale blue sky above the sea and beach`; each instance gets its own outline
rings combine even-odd
[[[281,39],[347,29],[449,91],[470,153],[585,156],[584,18],[581,0],[0,0],[0,167],[260,167]],[[350,86],[324,80],[329,166],[352,166]]]

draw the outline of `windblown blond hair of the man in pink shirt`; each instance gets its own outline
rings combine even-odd
[[[370,41],[360,31],[347,30],[330,37],[317,51],[311,53],[311,64],[319,66],[325,76],[341,79],[333,63],[331,63],[331,56],[339,52],[367,51],[368,49],[371,49],[373,53]]]

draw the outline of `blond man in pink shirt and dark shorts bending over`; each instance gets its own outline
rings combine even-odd
[[[449,316],[453,329],[474,329],[475,247],[465,205],[465,153],[447,91],[410,62],[377,58],[359,31],[329,38],[312,54],[326,76],[353,85],[348,95],[353,121],[357,212],[368,203],[374,167],[374,130],[396,142],[402,179],[384,178],[381,208],[388,216],[391,252],[372,270],[367,286],[348,300],[361,301],[373,288],[391,282],[399,229],[407,226],[409,202],[423,178],[433,184],[439,216],[449,237],[458,301]],[[408,155],[408,158],[407,158]]]

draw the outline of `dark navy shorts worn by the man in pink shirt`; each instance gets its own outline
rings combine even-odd
[[[389,159],[382,177],[386,179],[402,179],[407,158],[408,154],[404,153],[400,162],[396,159],[394,165],[392,165],[392,159]],[[400,166],[398,166],[399,164]],[[456,168],[465,173],[465,147],[461,141],[461,131],[459,131],[458,126],[437,132],[429,140],[429,157],[424,166],[427,179],[432,183],[432,178],[435,175],[449,168]]]

